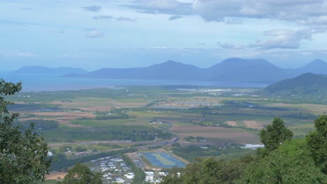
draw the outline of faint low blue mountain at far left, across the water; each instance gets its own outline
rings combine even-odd
[[[24,74],[24,75],[68,75],[71,73],[84,74],[87,70],[81,68],[70,68],[70,67],[60,67],[60,68],[47,68],[43,66],[25,66],[18,70],[13,71],[14,74]]]

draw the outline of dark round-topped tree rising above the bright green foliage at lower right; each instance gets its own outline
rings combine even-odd
[[[258,150],[261,155],[267,155],[270,151],[275,150],[285,140],[291,140],[293,132],[287,129],[281,118],[274,118],[273,123],[266,129],[260,131],[261,142],[265,148]]]

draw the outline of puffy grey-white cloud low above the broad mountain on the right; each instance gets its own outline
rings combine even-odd
[[[300,31],[292,31],[289,29],[273,29],[265,31],[265,36],[272,37],[268,40],[258,40],[256,43],[249,45],[249,47],[258,47],[261,49],[298,49],[302,40],[312,40],[312,33],[310,29],[303,29]]]

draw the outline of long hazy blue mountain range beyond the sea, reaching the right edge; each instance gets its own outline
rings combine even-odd
[[[29,70],[29,68],[21,68],[15,72],[21,72],[22,69],[24,71]],[[33,72],[37,73],[37,70],[38,68],[33,68]],[[327,75],[327,63],[317,59],[300,68],[285,69],[279,68],[264,59],[230,58],[210,68],[198,68],[176,61],[166,61],[144,68],[102,68],[92,72],[71,71],[62,75],[63,77],[106,79],[198,80],[271,84],[282,79],[296,77],[305,72]]]

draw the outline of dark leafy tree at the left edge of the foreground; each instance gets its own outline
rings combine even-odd
[[[0,183],[40,183],[50,167],[48,145],[33,132],[34,125],[22,131],[13,125],[19,114],[8,112],[13,102],[4,97],[19,92],[21,85],[0,79]]]

